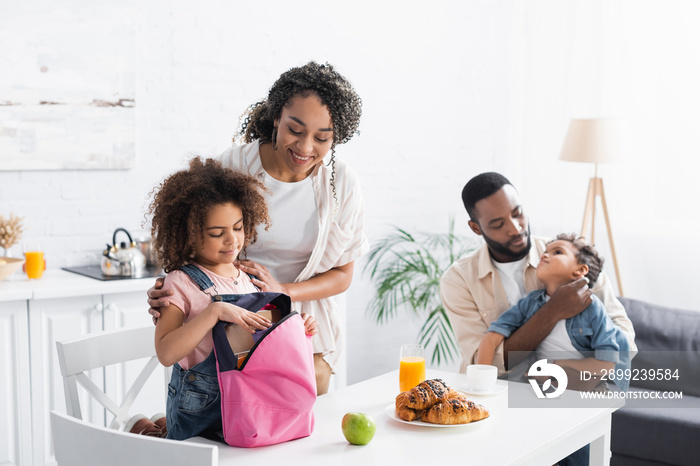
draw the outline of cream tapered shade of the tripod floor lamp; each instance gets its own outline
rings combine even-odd
[[[609,163],[625,150],[622,118],[573,119],[569,124],[559,160]]]

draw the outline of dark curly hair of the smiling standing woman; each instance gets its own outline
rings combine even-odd
[[[297,96],[316,95],[328,107],[333,122],[333,145],[348,142],[356,133],[362,116],[362,100],[350,82],[333,66],[309,62],[282,73],[270,88],[267,99],[248,108],[238,133],[245,142],[272,141],[275,119]]]

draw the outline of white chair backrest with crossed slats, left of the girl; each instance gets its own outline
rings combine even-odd
[[[68,414],[83,419],[78,394],[80,384],[90,396],[114,415],[109,427],[121,429],[131,418],[129,409],[136,396],[149,376],[160,366],[155,352],[154,334],[155,327],[150,326],[94,333],[71,341],[57,341],[56,349]],[[87,374],[93,369],[143,358],[147,358],[145,366],[119,403],[110,399]],[[169,371],[165,370],[166,385],[168,374]],[[167,393],[165,390],[164,387],[164,397]]]

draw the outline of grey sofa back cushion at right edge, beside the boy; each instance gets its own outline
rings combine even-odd
[[[632,380],[630,385],[700,396],[700,312],[620,298],[635,331],[639,353],[632,369],[678,369],[678,378]]]

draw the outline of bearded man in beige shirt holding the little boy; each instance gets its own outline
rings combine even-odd
[[[466,372],[476,361],[479,343],[491,322],[529,292],[542,288],[535,269],[547,239],[530,236],[518,192],[503,175],[475,176],[464,186],[462,200],[469,227],[485,244],[452,264],[440,280],[440,295],[462,352],[460,370]],[[499,373],[508,363],[512,367],[518,362],[508,360],[510,351],[537,348],[558,321],[577,315],[591,303],[591,293],[603,302],[630,350],[637,350],[632,322],[615,298],[607,275],[601,273],[593,289],[587,283],[580,278],[559,287],[539,312],[498,346],[493,364]]]

